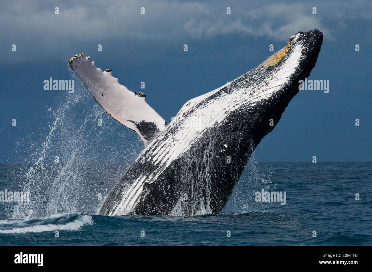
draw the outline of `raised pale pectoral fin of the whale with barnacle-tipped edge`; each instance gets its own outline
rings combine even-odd
[[[68,65],[99,105],[116,121],[137,132],[145,144],[165,129],[167,122],[146,103],[145,94],[119,84],[110,69],[102,71],[84,54],[75,55]]]

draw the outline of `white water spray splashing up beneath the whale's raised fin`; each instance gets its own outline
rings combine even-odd
[[[52,122],[47,137],[36,162],[23,177],[23,191],[30,191],[30,202],[17,202],[12,219],[96,214],[104,197],[125,172],[126,161],[132,161],[140,151],[138,137],[113,120],[80,79],[71,71],[70,74],[78,82],[77,88],[73,94],[65,94],[56,111],[48,109]],[[107,143],[115,132],[122,140]],[[109,173],[113,165],[108,165],[107,160],[121,162],[120,170]],[[122,165],[125,166],[120,168]],[[108,167],[108,175],[94,176],[95,167],[100,171]]]

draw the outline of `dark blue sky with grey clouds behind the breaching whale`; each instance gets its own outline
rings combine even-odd
[[[85,160],[131,160],[141,150],[137,134],[102,112],[105,125],[97,128],[94,99],[81,84],[73,94],[44,90],[50,77],[76,79],[67,67],[76,53],[110,68],[129,90],[144,92],[169,122],[187,100],[266,60],[273,54],[270,44],[278,51],[289,36],[314,28],[323,32],[324,42],[310,79],[330,80],[330,92],[300,91],[254,157],[372,160],[371,1],[2,1],[0,20],[1,162],[34,161],[53,111],[65,123],[57,125],[46,160],[71,153],[67,147],[77,133],[85,139],[78,148]]]

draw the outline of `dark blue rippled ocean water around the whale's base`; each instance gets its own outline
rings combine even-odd
[[[0,164],[0,191],[30,191],[28,203],[0,202],[0,245],[372,245],[372,162],[253,159],[220,214],[96,215],[128,166]],[[262,189],[286,192],[285,205],[256,201]]]

